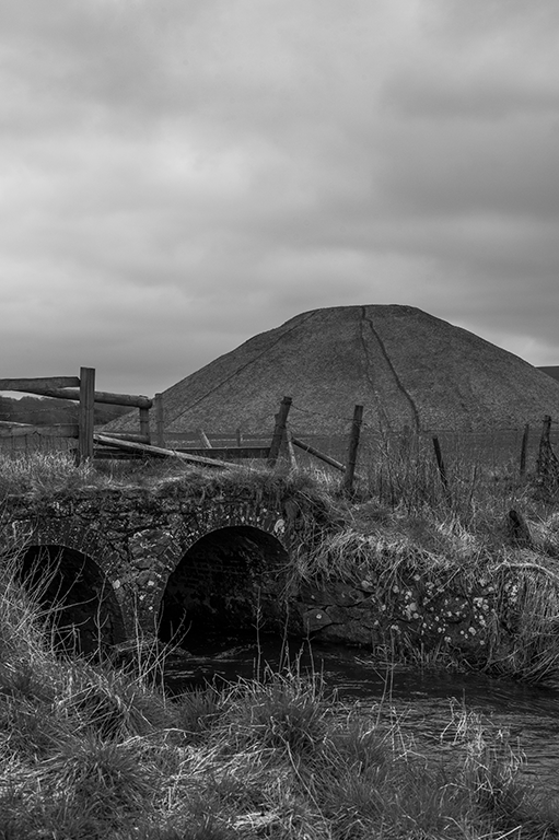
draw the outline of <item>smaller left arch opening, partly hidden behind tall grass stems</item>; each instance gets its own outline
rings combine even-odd
[[[126,639],[113,586],[88,555],[66,546],[31,546],[20,580],[45,607],[57,649],[98,656]]]

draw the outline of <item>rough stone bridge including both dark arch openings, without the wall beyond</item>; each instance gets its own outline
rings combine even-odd
[[[61,605],[84,651],[148,637],[279,626],[290,552],[301,540],[293,500],[261,490],[184,492],[84,488],[2,505],[2,550],[26,585]],[[75,630],[79,628],[79,630]]]

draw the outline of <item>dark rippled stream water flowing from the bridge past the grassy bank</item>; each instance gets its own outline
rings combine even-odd
[[[167,663],[166,684],[180,692],[206,682],[251,679],[267,665],[278,670],[289,654],[291,666],[301,674],[318,674],[327,691],[340,700],[357,703],[363,714],[383,715],[417,745],[423,755],[456,750],[461,746],[461,721],[467,713],[479,716],[485,732],[509,734],[520,750],[526,778],[559,795],[559,689],[523,686],[482,674],[446,673],[389,667],[364,651],[321,646],[296,640],[289,648],[278,638],[230,640],[189,645],[190,654],[173,656]],[[391,723],[392,722],[392,723]],[[383,724],[383,725],[384,725]]]

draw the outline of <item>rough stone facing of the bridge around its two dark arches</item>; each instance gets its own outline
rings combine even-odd
[[[270,569],[279,558],[281,565],[287,565],[288,550],[294,538],[292,525],[278,500],[267,500],[263,494],[251,494],[245,489],[236,494],[219,491],[207,500],[185,499],[179,492],[161,499],[156,494],[142,493],[115,493],[108,499],[88,493],[71,503],[55,501],[43,508],[16,505],[8,526],[0,533],[0,552],[21,556],[22,551],[44,546],[48,549],[44,557],[49,562],[54,555],[62,552],[61,568],[67,579],[71,576],[72,568],[85,563],[82,582],[85,574],[92,592],[86,597],[84,594],[84,599],[95,603],[93,593],[102,591],[103,604],[107,605],[110,623],[116,628],[115,635],[132,640],[138,633],[150,638],[156,631],[158,618],[162,617],[162,599],[165,599],[165,610],[168,611],[170,593],[178,580],[175,570],[199,540],[222,530],[233,537],[241,552],[240,568],[245,569],[248,582],[253,574],[251,570],[266,565],[260,563],[259,557],[267,557]],[[243,528],[254,529],[248,538],[256,548],[254,545],[252,549],[246,545],[243,548],[243,532],[235,530]],[[244,536],[247,536],[246,532]],[[210,550],[206,542],[201,544],[201,549]],[[34,550],[36,555],[38,549]],[[216,545],[211,550],[213,553],[218,551]],[[33,562],[32,555],[30,563]],[[246,560],[248,556],[251,560]],[[189,555],[190,560],[191,557]],[[172,586],[167,588],[170,579]],[[261,598],[272,585],[270,575],[266,578],[266,586],[264,578],[260,581],[263,585],[258,593],[251,587],[247,592],[257,594],[260,602],[256,603],[256,608],[259,605],[260,612],[268,618],[273,605],[264,605]],[[66,584],[59,581],[59,585],[65,588]],[[233,609],[240,600],[241,593],[228,604]],[[226,612],[229,615],[231,610],[228,608]],[[176,617],[173,622],[176,623]],[[123,623],[125,629],[120,632]]]

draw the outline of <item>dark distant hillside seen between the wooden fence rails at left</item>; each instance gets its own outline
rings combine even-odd
[[[128,413],[130,409],[121,406],[95,406],[95,424],[103,425]],[[51,397],[3,397],[0,395],[0,420],[12,423],[32,423],[33,425],[56,425],[78,422],[78,404],[68,399]]]

